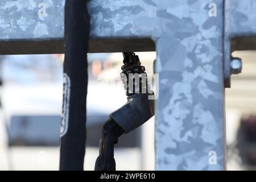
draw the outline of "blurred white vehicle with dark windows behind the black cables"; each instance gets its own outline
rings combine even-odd
[[[1,92],[0,170],[59,169],[63,96],[61,62],[52,55],[5,56],[1,70],[4,82]],[[85,170],[94,169],[101,126],[108,115],[125,102],[122,85],[89,80]],[[154,130],[151,125],[154,125],[153,121],[148,122],[142,131]],[[147,139],[143,143],[142,137]],[[151,142],[154,142],[154,135],[148,136],[141,129],[123,135],[115,150],[117,169],[154,169],[151,167],[154,156],[150,156],[153,157],[152,162],[142,157],[151,154],[143,152]]]

